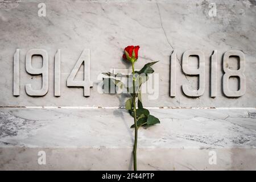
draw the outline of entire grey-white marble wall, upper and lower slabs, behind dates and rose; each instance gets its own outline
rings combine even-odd
[[[0,0],[1,170],[132,169],[133,120],[119,108],[127,95],[102,94],[100,85],[100,73],[131,69],[122,60],[123,48],[130,44],[141,46],[136,69],[159,60],[153,66],[159,74],[159,97],[142,97],[144,106],[161,123],[139,130],[139,169],[256,169],[255,1],[214,1],[216,17],[208,15],[212,1],[205,0],[43,2],[45,17],[38,16],[40,0]],[[34,89],[42,86],[41,77],[28,75],[25,69],[25,55],[33,48],[45,49],[49,56],[49,90],[43,97],[25,92],[25,84],[31,83]],[[20,49],[18,97],[13,96],[16,49]],[[61,96],[54,97],[58,49]],[[82,88],[67,87],[67,77],[83,49],[90,49],[90,97],[83,96]],[[177,90],[176,97],[170,97],[174,49]],[[205,92],[196,98],[181,91],[183,84],[194,89],[197,85],[195,77],[181,70],[181,56],[189,49],[200,49],[205,55]],[[214,50],[217,96],[211,98],[209,58]],[[242,97],[228,98],[222,92],[222,55],[228,50],[245,54],[246,93]],[[236,61],[229,62],[230,68],[238,68]],[[195,61],[191,64],[196,67]],[[32,66],[42,67],[40,57],[33,58]],[[82,78],[80,69],[77,79]],[[236,89],[238,84],[230,80],[229,86]],[[39,151],[46,152],[46,165],[38,164]],[[217,155],[216,165],[209,163],[212,151]]]

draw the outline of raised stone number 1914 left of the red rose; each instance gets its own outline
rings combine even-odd
[[[42,68],[32,67],[32,56],[40,55],[43,57]],[[28,96],[44,96],[48,92],[48,53],[44,49],[30,49],[26,54],[25,68],[30,75],[42,75],[42,88],[40,90],[32,89],[31,84],[25,85],[25,90]],[[84,63],[84,80],[76,81],[75,76]],[[13,59],[13,95],[19,96],[19,49],[16,49]],[[90,81],[90,50],[84,49],[79,60],[77,60],[75,67],[67,79],[67,86],[81,86],[84,87],[84,96],[90,96],[90,87],[93,82]],[[61,50],[58,49],[54,57],[54,96],[59,97],[61,91]]]

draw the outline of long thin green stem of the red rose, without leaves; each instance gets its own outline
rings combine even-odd
[[[137,171],[137,140],[138,140],[138,126],[137,126],[137,115],[136,115],[136,96],[135,96],[135,73],[134,73],[134,63],[133,67],[133,111],[134,111],[134,125],[135,125],[135,136],[134,136],[134,146],[133,146],[133,168]]]

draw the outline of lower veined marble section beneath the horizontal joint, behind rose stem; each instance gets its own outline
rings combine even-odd
[[[256,168],[256,109],[150,112],[161,123],[139,129],[140,169]],[[0,169],[131,169],[132,124],[125,109],[2,108]],[[47,164],[40,166],[42,150]]]

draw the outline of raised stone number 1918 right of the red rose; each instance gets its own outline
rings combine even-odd
[[[188,66],[189,56],[199,56],[199,68],[190,69]],[[177,52],[174,50],[171,55],[171,83],[170,83],[170,96],[176,96],[176,56]],[[239,58],[240,68],[232,70],[228,67],[229,57],[237,56]],[[246,77],[245,77],[245,55],[241,51],[226,51],[223,56],[223,69],[224,75],[222,77],[222,88],[226,97],[240,97],[246,92]],[[198,75],[199,76],[199,89],[189,90],[188,85],[182,85],[183,92],[189,97],[199,97],[204,94],[205,90],[205,57],[204,53],[199,50],[188,50],[183,53],[182,57],[182,70],[185,75]],[[229,78],[238,77],[239,89],[229,89]],[[217,51],[214,50],[210,57],[210,97],[217,96]]]

